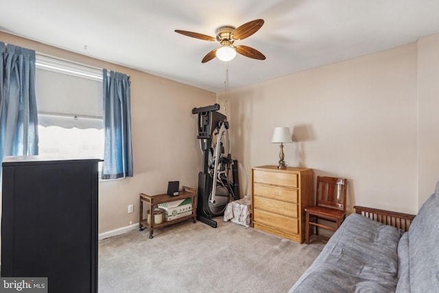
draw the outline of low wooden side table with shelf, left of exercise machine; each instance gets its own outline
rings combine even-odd
[[[168,226],[171,224],[175,224],[178,222],[185,221],[187,219],[192,218],[193,222],[196,222],[197,219],[197,192],[194,188],[191,187],[182,187],[182,191],[180,191],[180,194],[178,196],[168,196],[167,194],[156,194],[155,196],[148,196],[147,194],[140,194],[140,209],[139,209],[139,228],[141,231],[143,231],[144,228],[150,229],[150,238],[154,237],[154,228],[160,228],[164,226]],[[185,215],[181,218],[174,219],[171,221],[165,221],[161,222],[161,224],[154,224],[154,207],[156,207],[158,204],[162,204],[165,202],[173,202],[174,200],[184,200],[185,198],[191,198],[192,199],[192,213],[190,215]],[[147,204],[147,207],[150,211],[150,214],[147,214],[147,218],[143,218],[143,203]],[[149,223],[148,224],[148,218]]]

